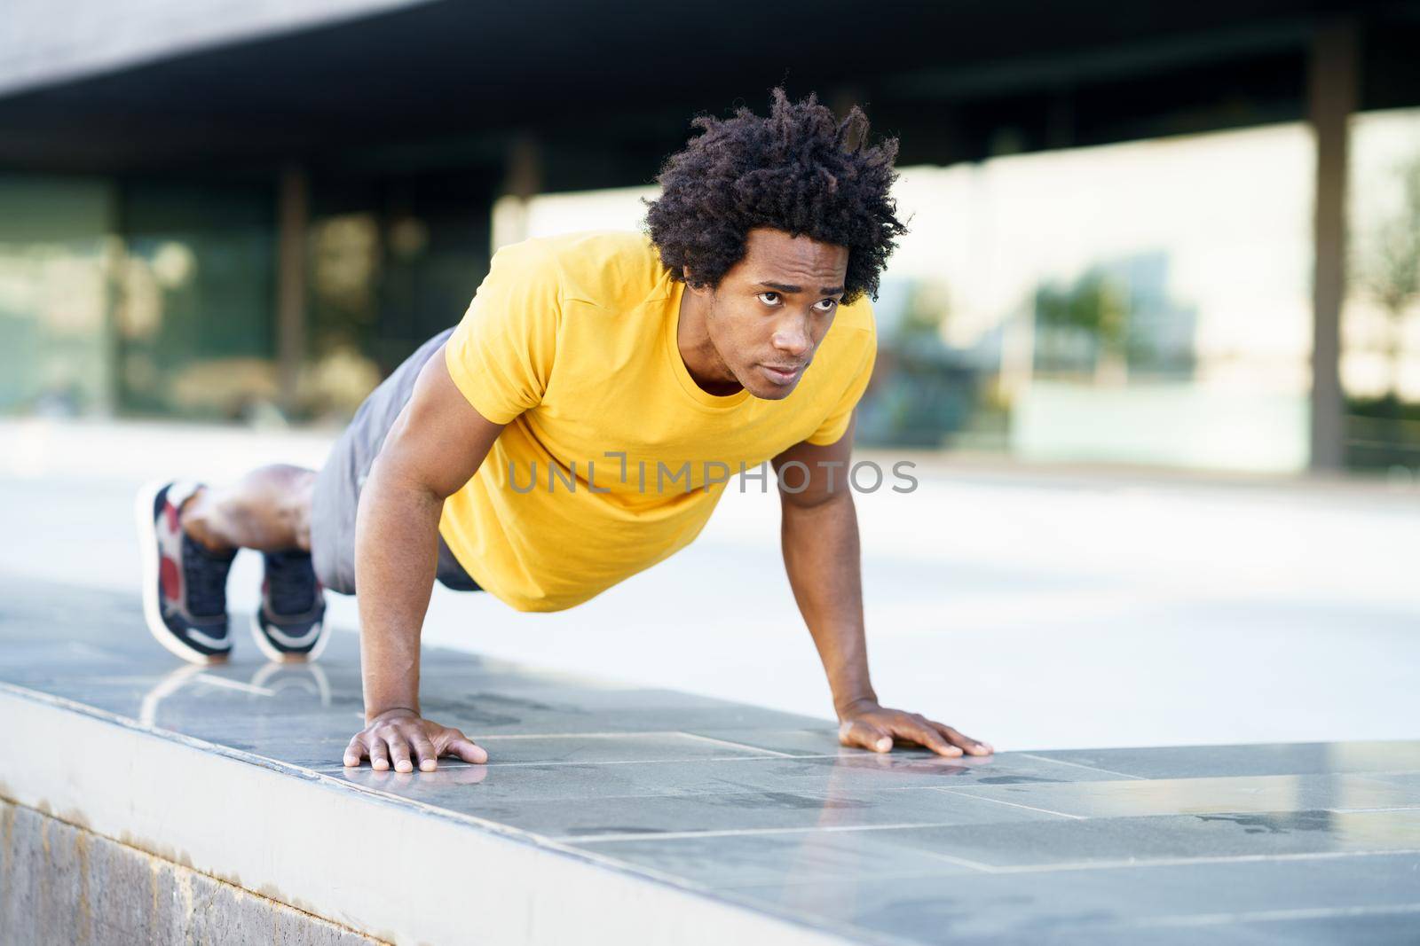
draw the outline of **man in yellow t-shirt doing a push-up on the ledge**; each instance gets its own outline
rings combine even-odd
[[[366,725],[345,764],[433,770],[487,753],[419,709],[436,580],[555,611],[689,545],[730,472],[781,475],[784,564],[846,746],[943,756],[991,747],[878,702],[863,642],[845,469],[876,330],[868,298],[905,227],[896,140],[869,146],[814,96],[767,118],[699,118],[649,203],[646,234],[500,250],[457,326],[361,406],[322,469],[139,496],[149,630],[190,661],[230,651],[237,549],[266,559],[257,644],[314,660],[322,589],[356,594]],[[835,475],[836,474],[836,475]],[[801,485],[802,484],[802,485]],[[733,606],[733,601],[731,601]]]

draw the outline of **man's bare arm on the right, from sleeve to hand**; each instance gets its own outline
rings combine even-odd
[[[852,448],[849,423],[835,444],[801,443],[774,458],[775,471],[791,461],[808,468],[808,474],[798,467],[782,472],[784,484],[797,491],[780,489],[784,567],[828,675],[839,740],[876,752],[888,752],[900,739],[943,756],[988,755],[991,746],[951,726],[878,702],[868,677],[858,511],[848,481]],[[798,489],[801,482],[804,489]]]

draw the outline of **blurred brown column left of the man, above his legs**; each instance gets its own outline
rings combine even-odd
[[[310,184],[305,170],[281,169],[277,189],[275,356],[281,410],[297,406],[301,365],[305,362],[305,234],[310,223]]]

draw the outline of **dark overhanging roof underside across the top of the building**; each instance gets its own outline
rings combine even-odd
[[[562,156],[554,189],[632,183],[696,111],[763,109],[780,82],[944,163],[1003,128],[1034,149],[1299,118],[1309,37],[1339,16],[1365,104],[1420,102],[1414,1],[442,0],[0,98],[0,169],[498,162],[532,135]]]

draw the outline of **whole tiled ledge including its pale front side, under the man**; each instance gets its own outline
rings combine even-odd
[[[354,634],[312,665],[239,640],[178,667],[136,594],[0,579],[0,929],[179,942],[190,909],[214,942],[268,920],[312,943],[1406,942],[1420,922],[1420,742],[878,756],[814,718],[435,648],[423,692],[487,764],[344,769]],[[206,894],[183,906],[183,885]]]

